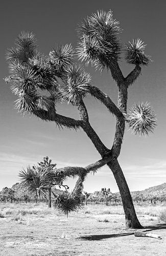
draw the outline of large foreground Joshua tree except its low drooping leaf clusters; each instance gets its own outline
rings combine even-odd
[[[33,114],[44,121],[53,121],[59,127],[82,129],[101,155],[99,161],[84,168],[61,169],[65,174],[68,171],[71,175],[79,176],[75,193],[81,193],[82,182],[91,170],[96,171],[107,164],[120,190],[126,226],[141,228],[117,159],[121,152],[125,123],[139,135],[153,132],[155,127],[155,115],[148,103],[135,104],[127,113],[128,89],[140,75],[141,67],[149,64],[150,57],[144,52],[143,41],[136,39],[128,42],[125,59],[134,66],[134,69],[124,77],[118,65],[124,49],[118,38],[121,29],[111,11],[98,11],[97,14],[85,18],[79,25],[78,32],[80,39],[76,50],[71,45],[56,46],[47,57],[37,51],[34,35],[22,32],[16,39],[15,47],[8,50],[10,76],[5,80],[11,82],[12,92],[18,96],[16,107],[19,112]],[[106,68],[110,71],[118,88],[117,106],[108,95],[90,83],[89,74],[80,66],[76,66],[74,53],[77,53],[80,60],[86,61],[87,64],[91,63],[96,69]],[[84,98],[88,94],[103,103],[116,118],[114,140],[109,148],[103,144],[89,123],[84,104]],[[56,106],[64,100],[78,109],[79,120],[58,114]]]

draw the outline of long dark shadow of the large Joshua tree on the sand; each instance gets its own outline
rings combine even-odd
[[[146,230],[141,230],[142,232],[166,229],[166,224],[157,224],[154,226],[144,226],[143,229],[146,229]],[[103,240],[103,239],[107,239],[107,238],[131,236],[133,234],[134,234],[134,232],[119,233],[119,234],[97,234],[97,235],[91,235],[91,236],[81,236],[81,237],[79,237],[79,239],[81,239],[81,240]]]

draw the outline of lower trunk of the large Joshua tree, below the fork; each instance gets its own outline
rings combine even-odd
[[[109,162],[107,165],[112,170],[117,186],[120,190],[123,208],[125,212],[126,227],[127,228],[143,228],[143,226],[140,225],[137,219],[133,201],[130,194],[130,190],[127,185],[127,182],[122,172],[120,164],[118,163],[117,160],[113,160],[112,162]]]

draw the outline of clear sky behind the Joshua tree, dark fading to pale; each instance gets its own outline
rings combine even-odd
[[[0,87],[0,190],[18,182],[22,166],[35,164],[43,156],[49,156],[57,167],[86,166],[100,159],[100,156],[86,134],[80,131],[61,130],[54,123],[43,122],[33,116],[22,117],[14,109],[16,97],[3,78],[8,75],[5,53],[14,45],[20,31],[32,31],[37,37],[39,50],[48,55],[55,44],[72,43],[77,46],[76,28],[82,18],[103,9],[114,13],[120,20],[123,33],[122,43],[132,38],[141,38],[147,44],[146,53],[153,62],[142,70],[142,75],[129,89],[128,107],[134,102],[150,102],[157,115],[154,134],[139,137],[125,132],[121,156],[118,158],[129,188],[141,190],[166,182],[165,157],[165,0],[6,0],[1,3],[1,87]],[[120,66],[127,75],[132,66],[122,60]],[[92,76],[92,83],[109,94],[116,103],[117,88],[110,73],[95,72],[86,68]],[[107,147],[111,147],[115,130],[115,118],[106,108],[88,96],[85,104],[90,122]],[[63,104],[58,113],[78,118],[77,110]],[[70,188],[74,180],[69,180]],[[96,175],[89,175],[84,190],[92,192],[102,187],[118,191],[113,175],[104,166]]]

